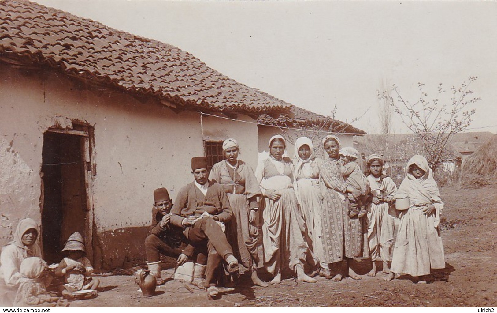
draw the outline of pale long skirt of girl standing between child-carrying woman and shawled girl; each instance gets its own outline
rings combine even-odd
[[[388,203],[371,203],[367,210],[369,255],[372,261],[392,260],[394,248],[394,215]]]

